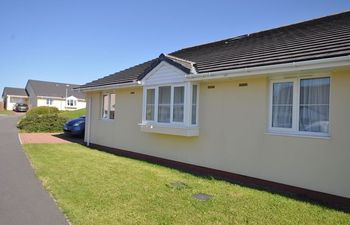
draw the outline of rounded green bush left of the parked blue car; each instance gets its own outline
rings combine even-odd
[[[22,118],[18,128],[26,132],[61,132],[66,120],[66,118],[59,116],[57,113],[34,113]]]

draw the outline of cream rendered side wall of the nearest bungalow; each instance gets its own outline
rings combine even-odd
[[[115,120],[100,119],[100,93],[88,93],[90,142],[350,197],[349,87],[350,69],[331,73],[330,138],[269,134],[267,76],[202,82],[198,137],[141,132],[142,88],[116,90]]]

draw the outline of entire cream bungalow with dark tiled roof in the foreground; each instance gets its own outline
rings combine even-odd
[[[79,90],[89,145],[350,204],[350,12],[161,54]]]

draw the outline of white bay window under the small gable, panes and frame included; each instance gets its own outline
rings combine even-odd
[[[177,130],[198,130],[197,114],[197,84],[181,83],[144,88],[143,119],[141,124],[143,131],[153,132],[156,127],[159,129],[160,127],[167,127]],[[151,131],[151,128],[153,131]],[[167,132],[171,133],[169,130]],[[165,132],[159,131],[158,133]],[[195,136],[195,133],[197,134],[198,131],[192,132],[191,135],[187,132],[186,136]]]

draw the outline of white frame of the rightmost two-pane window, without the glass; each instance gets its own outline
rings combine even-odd
[[[299,114],[300,114],[300,81],[303,79],[314,79],[314,78],[329,78],[329,127],[328,133],[322,132],[308,132],[299,130]],[[292,112],[292,128],[281,128],[272,127],[272,102],[273,102],[273,84],[283,83],[283,82],[293,82],[293,112]],[[316,137],[330,137],[330,124],[331,124],[331,86],[332,79],[330,75],[322,76],[298,76],[295,78],[288,79],[271,79],[270,80],[270,90],[269,90],[269,118],[268,118],[268,132],[276,134],[290,134],[297,136],[316,136]]]

